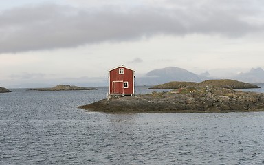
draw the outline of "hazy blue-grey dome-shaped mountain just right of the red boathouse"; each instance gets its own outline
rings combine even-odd
[[[199,76],[179,67],[166,67],[148,72],[146,76],[136,79],[136,85],[159,85],[170,81],[201,82],[208,80],[206,76]]]

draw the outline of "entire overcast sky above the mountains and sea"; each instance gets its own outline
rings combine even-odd
[[[0,87],[106,86],[118,65],[264,68],[262,0],[0,0]]]

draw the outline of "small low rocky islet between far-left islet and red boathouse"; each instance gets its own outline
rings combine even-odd
[[[77,91],[77,90],[96,90],[96,88],[88,88],[88,87],[77,87],[74,85],[57,85],[52,88],[34,88],[29,89],[30,91]]]

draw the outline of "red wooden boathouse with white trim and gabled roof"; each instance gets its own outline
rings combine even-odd
[[[135,93],[135,70],[120,65],[109,71],[109,95],[125,96]]]

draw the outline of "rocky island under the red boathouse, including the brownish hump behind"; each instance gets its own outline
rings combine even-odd
[[[250,85],[235,80],[208,80],[166,92],[104,99],[79,108],[109,113],[264,111],[264,94],[234,89],[239,84],[245,88]]]

